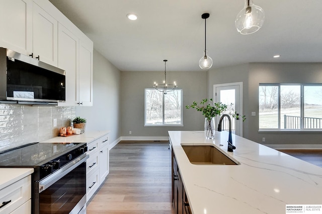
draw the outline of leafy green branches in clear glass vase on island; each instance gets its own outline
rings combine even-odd
[[[226,111],[228,106],[221,102],[214,103],[213,99],[211,98],[209,100],[203,99],[200,102],[200,105],[198,105],[196,101],[193,101],[192,105],[187,105],[186,108],[195,108],[197,111],[202,112],[202,114],[205,116],[205,137],[212,139],[215,137],[215,117]]]

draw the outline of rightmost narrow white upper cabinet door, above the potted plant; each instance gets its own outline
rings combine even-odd
[[[93,43],[79,44],[79,105],[93,105]]]

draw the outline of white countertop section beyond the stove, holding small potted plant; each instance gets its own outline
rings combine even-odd
[[[109,131],[85,131],[83,134],[73,134],[67,137],[57,136],[41,143],[90,143],[108,133]]]

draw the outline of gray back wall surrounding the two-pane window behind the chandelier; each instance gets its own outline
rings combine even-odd
[[[161,83],[164,72],[121,72],[121,136],[168,136],[168,130],[203,130],[204,117],[186,105],[206,98],[207,72],[167,72],[169,82],[183,89],[183,127],[144,127],[144,89]],[[129,134],[132,131],[132,134]]]

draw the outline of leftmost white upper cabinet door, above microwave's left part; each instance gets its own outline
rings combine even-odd
[[[32,0],[1,1],[0,47],[32,53]]]

